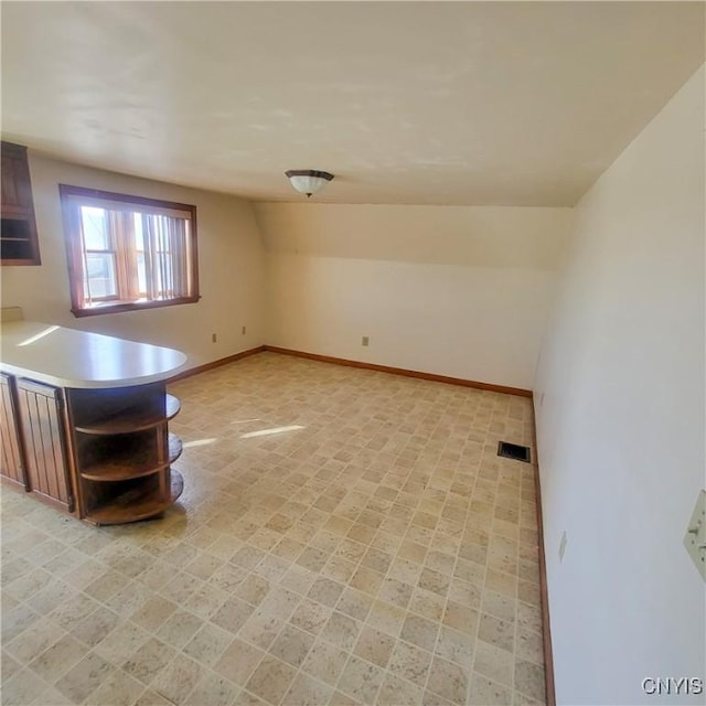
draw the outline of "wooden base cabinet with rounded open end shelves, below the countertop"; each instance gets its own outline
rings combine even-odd
[[[164,383],[76,389],[0,374],[0,474],[93,524],[154,517],[182,493]]]

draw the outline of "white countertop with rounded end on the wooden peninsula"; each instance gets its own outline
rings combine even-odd
[[[4,322],[0,370],[58,387],[127,387],[175,375],[186,356],[174,349],[34,321]]]

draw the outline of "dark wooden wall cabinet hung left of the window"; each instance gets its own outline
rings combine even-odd
[[[2,265],[40,265],[26,147],[2,142],[0,259]]]

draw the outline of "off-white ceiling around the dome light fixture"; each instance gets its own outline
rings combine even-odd
[[[573,205],[702,2],[2,2],[4,139],[258,201]]]

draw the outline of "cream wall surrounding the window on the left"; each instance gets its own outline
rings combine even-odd
[[[233,196],[184,189],[30,152],[42,265],[2,268],[2,304],[24,318],[175,347],[189,366],[264,343],[264,249],[252,205]],[[75,318],[57,184],[88,186],[196,205],[201,300],[143,311]],[[240,333],[242,327],[247,333]],[[212,343],[212,333],[217,342]]]

